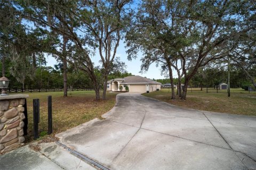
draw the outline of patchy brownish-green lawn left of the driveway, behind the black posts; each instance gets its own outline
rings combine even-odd
[[[20,94],[20,93],[18,93]],[[33,140],[33,99],[40,103],[39,134],[42,139],[47,134],[47,96],[52,96],[53,135],[92,120],[108,112],[115,105],[116,93],[107,92],[107,100],[95,101],[94,91],[72,91],[68,97],[63,92],[26,92],[28,108],[28,135],[26,141]]]

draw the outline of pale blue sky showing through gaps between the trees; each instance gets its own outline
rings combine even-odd
[[[152,64],[149,66],[149,69],[146,73],[141,74],[140,73],[140,65],[141,56],[138,56],[136,59],[132,59],[132,61],[127,60],[127,54],[125,53],[125,44],[122,41],[120,45],[117,48],[116,56],[120,57],[120,60],[122,62],[125,62],[127,65],[126,71],[129,73],[132,73],[133,75],[140,75],[141,77],[147,77],[149,79],[165,79],[164,75],[161,75],[160,67],[156,67],[155,64]],[[139,54],[141,55],[141,54]],[[99,53],[96,53],[95,56],[91,58],[92,62],[99,63],[100,57]],[[54,57],[46,56],[47,66],[53,66],[54,64],[57,64],[57,60],[55,60]]]

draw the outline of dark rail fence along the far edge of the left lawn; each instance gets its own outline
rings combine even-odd
[[[63,91],[64,89],[53,88],[53,89],[23,89],[23,88],[9,88],[6,91],[11,92],[47,92],[47,91]],[[89,91],[93,89],[85,89],[85,88],[72,88],[68,89],[68,91]]]

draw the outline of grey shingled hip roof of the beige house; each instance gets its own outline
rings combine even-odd
[[[116,80],[116,79],[114,79]],[[123,82],[121,84],[132,84],[132,83],[143,83],[143,84],[161,84],[159,82],[147,79],[147,78],[143,78],[139,75],[135,75],[135,76],[129,76],[129,77],[125,77],[123,78]]]

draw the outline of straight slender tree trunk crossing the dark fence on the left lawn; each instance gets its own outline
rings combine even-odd
[[[67,56],[66,56],[66,45],[68,39],[63,37],[63,48],[62,48],[62,63],[63,63],[63,96],[68,97],[68,86],[67,86]]]

